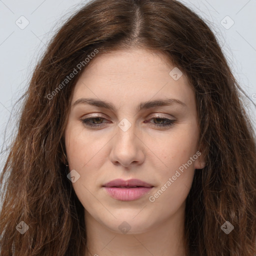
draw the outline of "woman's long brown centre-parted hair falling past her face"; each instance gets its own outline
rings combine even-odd
[[[195,92],[206,166],[195,170],[186,199],[187,256],[256,254],[255,135],[212,31],[176,0],[94,0],[51,39],[22,96],[0,177],[0,256],[84,254],[84,209],[61,149],[70,98],[91,52],[98,50],[96,58],[134,47],[163,52]],[[23,234],[16,229],[20,221],[29,226]],[[234,228],[228,234],[221,230],[225,221]]]

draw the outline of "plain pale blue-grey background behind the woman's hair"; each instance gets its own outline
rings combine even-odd
[[[14,103],[28,85],[35,63],[55,31],[67,17],[87,1],[0,0],[0,165],[6,146],[17,127]],[[182,0],[206,21],[216,34],[233,73],[246,94],[256,103],[256,0]],[[15,21],[25,16],[29,24],[20,29]],[[229,16],[234,24],[226,29],[221,20]],[[19,19],[18,19],[19,20]],[[225,21],[227,20],[227,21]],[[224,19],[226,26],[231,20]],[[254,94],[255,93],[255,94]],[[254,96],[253,96],[254,95]],[[247,111],[256,130],[255,107]],[[10,121],[7,123],[8,118]],[[6,141],[3,143],[6,128]],[[22,163],[20,163],[22,164]],[[0,168],[0,170],[2,167]]]

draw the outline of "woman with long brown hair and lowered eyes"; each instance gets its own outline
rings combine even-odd
[[[89,2],[25,93],[0,255],[255,255],[255,137],[238,89],[178,1]]]

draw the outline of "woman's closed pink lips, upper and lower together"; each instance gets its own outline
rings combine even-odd
[[[138,186],[133,188],[125,188],[125,187],[117,187],[117,186]],[[131,201],[138,199],[143,196],[145,193],[149,192],[149,190],[153,187],[151,184],[148,184],[139,179],[114,179],[103,185],[108,194],[121,201]]]

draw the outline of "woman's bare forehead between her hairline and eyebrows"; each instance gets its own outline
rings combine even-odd
[[[120,105],[168,97],[194,103],[188,79],[160,52],[119,50],[90,61],[75,85],[72,102],[93,97]],[[178,79],[172,70],[178,72],[174,76]]]

